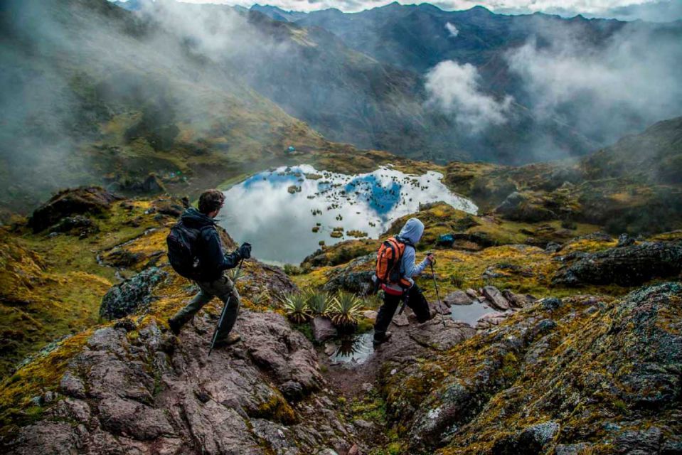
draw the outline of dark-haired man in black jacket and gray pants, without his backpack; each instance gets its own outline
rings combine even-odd
[[[227,269],[237,267],[241,259],[251,257],[251,245],[243,244],[228,255],[223,252],[218,231],[215,230],[215,218],[223,207],[225,195],[218,190],[204,191],[199,197],[199,210],[188,208],[181,215],[183,225],[199,230],[201,234],[196,240],[196,255],[198,257],[198,273],[196,282],[200,291],[192,301],[168,320],[171,331],[178,335],[182,326],[213,297],[218,297],[228,308],[225,313],[223,326],[216,337],[215,347],[236,343],[240,336],[230,333],[239,312],[239,293],[231,279],[225,276]],[[231,296],[231,299],[230,299]]]

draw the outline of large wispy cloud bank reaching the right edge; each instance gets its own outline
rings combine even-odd
[[[506,60],[539,118],[558,118],[608,143],[682,114],[678,39],[634,24],[595,46],[575,31],[545,30]]]

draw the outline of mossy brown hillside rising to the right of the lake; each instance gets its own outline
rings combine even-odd
[[[678,117],[577,162],[518,167],[452,162],[444,181],[481,211],[494,210],[508,220],[591,223],[615,235],[665,232],[678,229],[682,220],[681,135]]]

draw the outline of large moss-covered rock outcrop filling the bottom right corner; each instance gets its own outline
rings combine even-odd
[[[385,375],[393,424],[410,429],[410,452],[676,453],[680,301],[680,283],[545,299]]]

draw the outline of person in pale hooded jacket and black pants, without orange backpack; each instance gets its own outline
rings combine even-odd
[[[391,319],[398,309],[398,305],[406,299],[407,306],[415,312],[417,321],[425,322],[431,319],[431,311],[422,290],[415,284],[414,277],[422,273],[424,269],[433,261],[433,255],[427,256],[419,264],[415,261],[415,245],[422,238],[424,224],[417,218],[410,218],[400,230],[400,234],[395,240],[405,245],[403,256],[400,258],[400,277],[407,284],[407,289],[402,295],[384,292],[383,305],[380,307],[376,322],[374,324],[374,344],[388,341],[391,333],[387,331]]]

